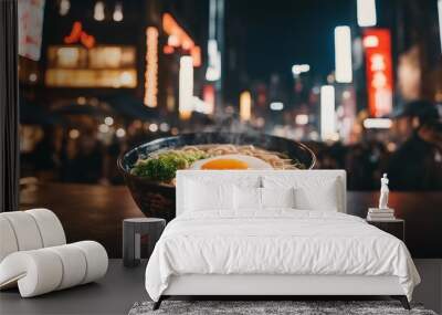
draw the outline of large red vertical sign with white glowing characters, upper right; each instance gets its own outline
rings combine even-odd
[[[390,31],[366,29],[362,35],[366,51],[368,111],[371,117],[381,117],[392,109],[392,63]]]

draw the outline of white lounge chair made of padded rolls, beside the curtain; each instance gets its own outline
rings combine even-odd
[[[22,297],[31,297],[106,274],[106,250],[94,241],[66,244],[48,209],[0,213],[0,290],[18,286]]]

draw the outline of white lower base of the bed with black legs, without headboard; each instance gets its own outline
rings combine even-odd
[[[327,296],[370,297],[390,296],[399,300],[406,309],[410,304],[397,276],[364,275],[214,275],[188,274],[172,276],[168,288],[154,304],[158,309],[161,302],[171,296],[193,297],[248,297],[254,300],[292,300],[312,297],[320,300]]]

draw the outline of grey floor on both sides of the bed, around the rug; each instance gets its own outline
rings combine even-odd
[[[417,267],[423,283],[414,292],[413,301],[423,303],[425,308],[441,312],[442,293],[439,282],[441,273],[435,269],[442,266],[441,261],[417,261]],[[110,260],[104,279],[59,292],[32,298],[21,298],[17,288],[0,292],[1,315],[49,315],[49,314],[127,314],[135,302],[148,301],[145,290],[146,261],[137,267],[124,267],[122,260]],[[441,269],[442,272],[442,269]],[[439,277],[438,277],[439,276]],[[439,287],[438,292],[434,288]],[[296,300],[386,300],[387,296],[336,296],[303,297]]]

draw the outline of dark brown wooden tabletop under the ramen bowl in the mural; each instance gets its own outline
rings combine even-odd
[[[365,218],[378,192],[349,191],[347,212]],[[110,258],[122,256],[122,222],[144,217],[125,186],[44,183],[21,190],[21,209],[44,207],[63,223],[69,242],[95,240]],[[414,259],[442,259],[442,192],[391,192],[390,207],[406,220],[406,243]]]

